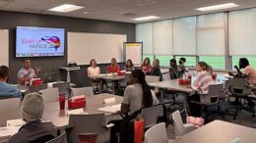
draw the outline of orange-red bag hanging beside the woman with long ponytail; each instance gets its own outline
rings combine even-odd
[[[144,136],[144,119],[134,121],[134,143],[142,143]]]

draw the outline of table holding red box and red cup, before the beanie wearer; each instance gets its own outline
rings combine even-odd
[[[115,98],[115,102],[104,104],[104,99]],[[86,96],[87,105],[83,108],[85,114],[105,114],[106,117],[113,115],[113,113],[101,112],[98,111],[98,108],[121,104],[123,97],[112,95],[112,94],[97,94],[92,96]],[[65,127],[68,125],[69,117],[68,117],[68,106],[67,102],[65,102],[65,110],[59,109],[59,102],[50,102],[44,104],[44,112],[42,115],[42,119],[50,120],[56,127]],[[9,110],[0,112],[0,126],[6,126],[6,121],[8,119],[22,119],[21,109]]]

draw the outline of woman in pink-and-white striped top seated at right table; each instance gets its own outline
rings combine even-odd
[[[191,103],[191,101],[200,102],[199,94],[208,94],[209,85],[215,84],[214,79],[207,70],[208,65],[205,62],[199,62],[197,64],[196,71],[198,71],[198,75],[191,84],[191,88],[196,90],[197,93],[188,97],[190,114],[193,117],[201,117],[201,107],[197,104]]]

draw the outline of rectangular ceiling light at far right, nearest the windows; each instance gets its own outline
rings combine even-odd
[[[226,3],[226,4],[221,4],[221,5],[202,7],[202,8],[198,8],[196,10],[206,12],[206,11],[215,11],[215,10],[221,10],[221,9],[234,8],[234,7],[238,7],[238,6],[239,5],[236,5],[234,3]]]

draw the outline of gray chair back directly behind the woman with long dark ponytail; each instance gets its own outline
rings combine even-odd
[[[153,125],[156,125],[158,118],[160,117],[160,112],[162,112],[162,106],[155,106],[142,110],[142,116],[145,121],[145,128],[149,128]]]

